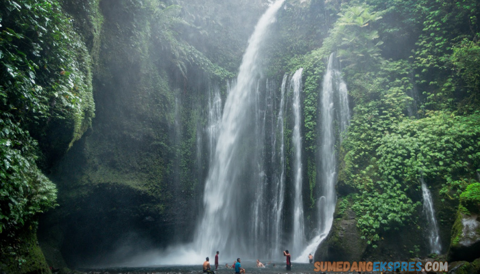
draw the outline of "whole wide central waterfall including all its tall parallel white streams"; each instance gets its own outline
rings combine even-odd
[[[350,120],[348,90],[333,53],[319,96],[316,236],[307,241],[311,233],[306,231],[302,197],[303,69],[285,74],[279,87],[261,76],[260,66],[269,25],[284,2],[276,1],[261,16],[237,79],[227,82],[226,99],[222,101],[217,86],[209,88],[206,125],[197,129],[202,132],[197,136],[197,160],[208,166],[203,212],[193,242],[170,247],[153,262],[171,264],[188,256],[198,263],[217,250],[223,258],[283,260],[285,249],[296,262],[308,262],[309,253],[328,235],[336,203],[335,145],[341,143]]]

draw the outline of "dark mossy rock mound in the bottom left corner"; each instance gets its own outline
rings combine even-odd
[[[16,238],[0,236],[1,274],[51,274],[38,245],[36,225],[25,225]]]

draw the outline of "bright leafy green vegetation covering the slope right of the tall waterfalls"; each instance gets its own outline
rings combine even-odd
[[[339,180],[356,189],[357,226],[373,247],[412,225],[420,177],[440,182],[443,199],[477,182],[478,15],[477,1],[350,1],[326,38],[355,101]],[[412,55],[390,49],[393,34],[414,42]]]

